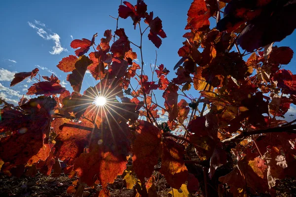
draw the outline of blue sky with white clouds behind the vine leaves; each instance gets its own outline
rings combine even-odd
[[[135,4],[136,0],[130,2]],[[186,14],[191,0],[146,0],[145,2],[148,5],[148,12],[153,11],[154,16],[162,20],[163,30],[167,34],[159,49],[155,48],[148,40],[147,34],[145,35],[143,52],[146,74],[150,70],[149,65],[155,62],[155,50],[157,50],[157,65],[164,64],[171,71],[168,78],[172,79],[175,77],[173,67],[180,59],[177,52],[185,40],[182,36],[186,32],[184,30]],[[15,104],[17,97],[26,94],[25,89],[34,82],[24,81],[10,88],[11,74],[31,71],[35,67],[39,68],[40,75],[49,76],[52,72],[55,73],[72,91],[66,81],[68,73],[60,71],[56,65],[63,57],[74,54],[74,49],[70,47],[73,39],[91,39],[94,33],[98,33],[97,42],[99,42],[105,30],[114,31],[116,21],[109,15],[117,17],[119,4],[120,0],[3,1],[0,6],[0,97],[5,97]],[[125,28],[130,40],[138,44],[139,29],[134,30],[132,23],[130,18],[120,19],[118,26]],[[296,32],[274,45],[290,46],[296,51]],[[132,48],[137,52],[136,47]],[[295,64],[296,56],[285,68],[295,73]],[[90,74],[86,74],[84,79],[82,91],[96,84]],[[198,97],[197,91],[190,93]],[[161,100],[161,96],[162,93],[159,92],[157,99]],[[293,113],[296,113],[296,108]]]

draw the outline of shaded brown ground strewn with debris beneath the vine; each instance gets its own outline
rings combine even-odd
[[[165,181],[165,178],[155,172],[155,186],[158,197],[171,197],[168,192],[171,191],[170,186]],[[69,186],[72,186],[73,181],[78,177],[69,178],[65,174],[59,177],[45,176],[38,173],[35,177],[22,176],[9,177],[0,174],[0,197],[72,197],[73,194],[67,193]],[[94,197],[97,191],[102,187],[98,185],[95,188],[86,187],[83,197]],[[134,197],[133,190],[125,188],[125,182],[120,177],[109,185],[111,197]],[[284,179],[276,188],[278,197],[296,197],[296,180]],[[199,197],[198,193],[193,197]]]

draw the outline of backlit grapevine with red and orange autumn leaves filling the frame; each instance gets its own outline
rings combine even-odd
[[[173,197],[277,196],[282,179],[296,178],[296,121],[283,119],[296,75],[282,68],[293,50],[274,42],[293,33],[295,11],[295,0],[193,0],[180,61],[169,70],[156,54],[148,74],[142,40],[161,50],[162,21],[143,0],[121,2],[116,29],[74,39],[75,54],[57,63],[73,90],[37,68],[14,75],[10,86],[37,83],[18,106],[0,99],[1,173],[77,177],[74,197],[97,186],[95,197],[109,197],[118,180],[131,197],[157,197],[159,177]],[[97,85],[82,92],[86,71]]]

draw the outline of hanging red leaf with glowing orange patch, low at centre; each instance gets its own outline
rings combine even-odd
[[[184,146],[171,139],[163,140],[160,173],[175,189],[179,189],[187,180],[188,171],[183,160],[184,154]]]

